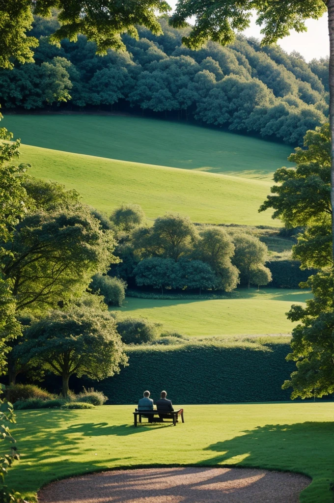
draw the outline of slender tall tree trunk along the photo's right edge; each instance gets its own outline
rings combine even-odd
[[[329,122],[331,131],[331,238],[332,258],[334,267],[334,0],[328,0],[328,32],[329,32]]]

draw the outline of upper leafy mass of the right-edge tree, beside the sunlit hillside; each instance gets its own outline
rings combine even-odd
[[[273,218],[280,218],[290,228],[304,228],[293,247],[293,256],[303,268],[332,267],[329,124],[308,131],[304,146],[289,157],[296,169],[276,171],[278,185],[271,188],[272,195],[259,211],[273,208]]]

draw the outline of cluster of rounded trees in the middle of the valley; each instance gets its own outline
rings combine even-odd
[[[122,214],[128,216],[130,208],[137,213],[125,232]],[[119,239],[115,254],[122,261],[112,266],[111,274],[161,293],[164,288],[230,292],[239,283],[249,287],[271,281],[264,265],[268,249],[257,237],[231,237],[221,227],[198,227],[174,213],[156,218],[148,227],[139,216],[140,208],[122,206],[111,217]]]

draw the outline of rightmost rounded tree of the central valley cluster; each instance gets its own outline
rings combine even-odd
[[[240,271],[241,283],[246,284],[249,288],[250,283],[253,283],[253,274],[259,269],[262,269],[262,271],[267,270],[268,279],[271,279],[269,269],[264,267],[268,255],[268,248],[265,243],[262,243],[256,236],[240,233],[233,236],[233,244],[235,251],[232,263]],[[258,278],[255,277],[255,279]],[[256,281],[255,284],[258,285]]]

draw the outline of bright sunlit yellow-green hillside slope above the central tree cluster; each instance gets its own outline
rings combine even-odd
[[[28,145],[20,160],[31,175],[76,189],[83,200],[111,213],[122,203],[140,204],[149,218],[165,211],[189,215],[194,222],[274,225],[270,211],[258,213],[270,181],[173,167],[138,164],[103,157],[48,150]]]

